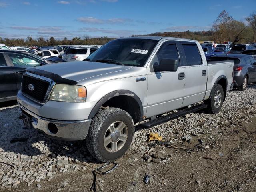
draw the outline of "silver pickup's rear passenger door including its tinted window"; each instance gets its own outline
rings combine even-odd
[[[185,88],[182,107],[202,101],[206,92],[208,68],[195,42],[180,42],[185,62]]]

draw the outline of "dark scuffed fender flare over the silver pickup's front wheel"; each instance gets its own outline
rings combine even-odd
[[[88,116],[88,118],[93,118],[97,111],[99,110],[99,108],[108,100],[116,97],[116,96],[130,96],[132,98],[134,98],[136,100],[136,102],[138,103],[139,107],[140,107],[140,120],[143,119],[143,106],[142,106],[142,102],[140,100],[140,98],[131,91],[128,90],[116,90],[113,92],[110,92],[108,94],[106,94],[105,96],[103,96],[97,103],[96,105],[92,108],[92,111],[90,112],[90,115]]]

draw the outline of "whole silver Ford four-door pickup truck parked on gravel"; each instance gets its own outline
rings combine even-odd
[[[148,128],[204,108],[217,113],[233,86],[234,62],[207,62],[194,40],[120,38],[86,60],[27,69],[18,107],[26,126],[86,139],[103,162],[128,150],[135,123]]]

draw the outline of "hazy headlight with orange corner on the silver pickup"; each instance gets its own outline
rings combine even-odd
[[[63,102],[86,102],[86,88],[80,85],[56,84],[50,100]]]

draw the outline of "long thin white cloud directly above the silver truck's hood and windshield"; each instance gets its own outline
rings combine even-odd
[[[77,18],[78,21],[89,24],[124,24],[126,22],[132,22],[132,19],[122,19],[122,18],[112,18],[112,19],[97,19],[94,17],[80,17]]]

